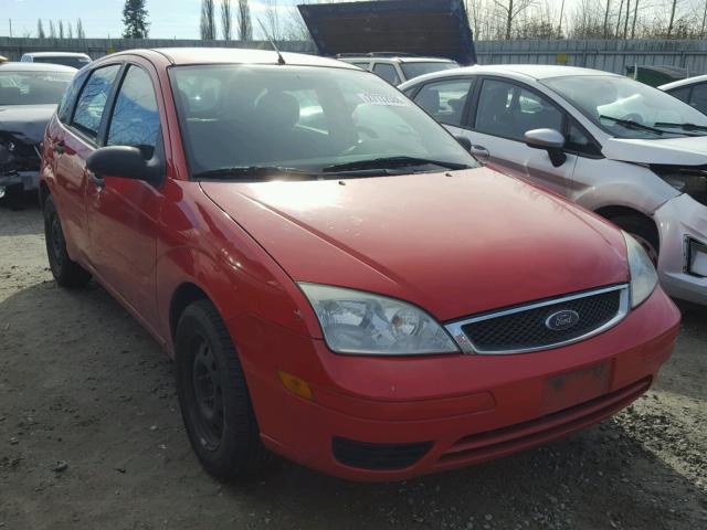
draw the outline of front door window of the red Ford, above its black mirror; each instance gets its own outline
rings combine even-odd
[[[151,156],[158,134],[159,112],[150,76],[130,66],[115,99],[107,145],[141,147]]]

